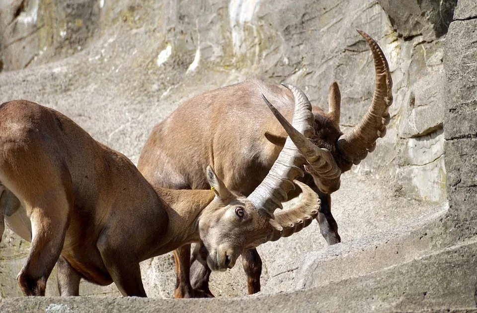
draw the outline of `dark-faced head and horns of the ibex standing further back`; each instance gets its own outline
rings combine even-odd
[[[303,135],[293,131],[286,120],[281,122],[306,157],[305,169],[313,176],[318,188],[327,193],[339,188],[341,173],[348,171],[353,164],[359,164],[368,152],[374,151],[376,140],[386,135],[386,125],[390,122],[388,108],[393,103],[393,81],[388,61],[374,39],[357,31],[371,48],[376,70],[373,101],[363,120],[347,134],[339,130],[341,95],[338,85],[333,82],[329,88],[328,113],[315,115],[316,132]]]

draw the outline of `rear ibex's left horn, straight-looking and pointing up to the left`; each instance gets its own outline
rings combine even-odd
[[[287,87],[288,88],[288,87]],[[296,88],[296,87],[295,87]],[[298,88],[297,88],[298,89]],[[299,89],[298,89],[299,90]],[[310,102],[308,101],[307,96],[301,92],[301,97],[304,97],[304,101],[311,106]],[[301,154],[307,159],[310,170],[313,171],[314,174],[318,175],[322,179],[326,179],[329,183],[333,186],[339,186],[339,177],[341,175],[341,170],[336,165],[336,161],[334,160],[331,152],[328,149],[318,148],[313,142],[310,141],[303,133],[307,133],[309,127],[307,127],[306,131],[303,133],[298,131],[294,128],[293,125],[290,124],[281,114],[275,109],[268,100],[263,97],[265,103],[268,105],[272,113],[277,118],[278,122],[283,126],[285,131],[288,134],[288,137],[295,143],[296,147],[300,151]],[[294,120],[295,121],[295,120]],[[310,126],[311,127],[311,126]],[[310,132],[314,132],[315,130],[310,130]],[[308,132],[308,133],[310,133]],[[313,133],[311,133],[313,134]],[[335,182],[331,182],[334,180]],[[335,188],[332,188],[335,189]],[[334,191],[334,190],[333,190]]]

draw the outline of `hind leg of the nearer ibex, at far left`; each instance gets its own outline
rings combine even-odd
[[[43,162],[41,153],[36,160],[24,158],[28,166],[10,173],[11,186],[21,195],[31,221],[32,241],[28,257],[17,276],[26,296],[44,296],[46,282],[60,256],[73,208],[72,182],[69,172],[54,159]],[[43,163],[43,164],[38,164]],[[49,166],[45,166],[49,164]]]

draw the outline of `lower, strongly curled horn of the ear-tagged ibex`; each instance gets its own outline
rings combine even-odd
[[[293,183],[302,189],[302,198],[293,208],[275,214],[275,219],[270,220],[273,231],[269,241],[298,233],[318,216],[321,205],[318,194],[304,183],[299,181]]]

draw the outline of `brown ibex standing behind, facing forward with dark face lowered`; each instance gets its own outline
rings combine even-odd
[[[340,174],[363,160],[386,134],[392,104],[392,79],[387,60],[378,44],[366,33],[358,32],[371,48],[376,87],[371,107],[361,123],[343,134],[339,128],[340,93],[331,84],[329,111],[313,106],[314,134],[307,145],[308,163],[302,180],[321,198],[318,215],[320,231],[328,244],[340,242],[337,225],[330,212],[330,192],[340,186]],[[277,159],[287,133],[262,106],[265,95],[288,119],[293,116],[293,98],[286,88],[258,80],[218,88],[195,96],[156,125],[144,146],[138,168],[155,186],[166,188],[208,188],[202,173],[210,164],[225,184],[240,194],[250,194],[267,175]],[[184,127],[184,125],[187,125]],[[316,151],[327,149],[327,164],[337,165],[337,173],[323,170],[324,158]],[[329,169],[334,167],[330,166]],[[204,261],[206,249],[196,247],[190,268],[190,245],[174,251],[177,268],[176,297],[213,296],[208,287],[210,270]],[[248,293],[260,290],[261,260],[255,249],[242,254]],[[191,285],[192,283],[192,285]]]

